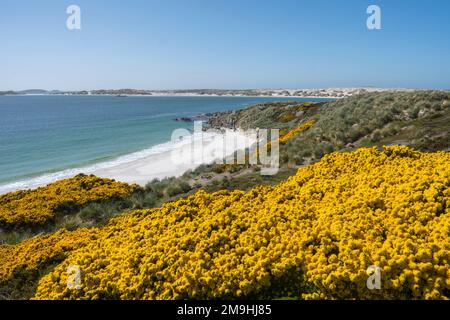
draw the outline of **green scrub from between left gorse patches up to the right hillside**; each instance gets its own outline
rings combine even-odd
[[[55,218],[44,225],[17,227],[3,223],[0,243],[16,243],[60,228],[73,230],[103,225],[117,214],[159,207],[199,190],[246,191],[259,185],[277,184],[295,174],[299,167],[315,163],[334,151],[382,145],[408,145],[420,151],[448,151],[450,93],[381,92],[328,103],[269,102],[210,114],[206,127],[280,129],[280,140],[283,141],[278,174],[261,176],[259,167],[249,164],[204,164],[177,178],[155,179],[145,187],[133,186],[133,190],[123,197],[105,196],[100,201],[72,206],[70,210],[64,206],[62,214],[47,212]],[[3,197],[11,197],[11,194]],[[5,211],[0,205],[2,210]],[[16,211],[16,214],[21,212]],[[11,217],[10,214],[9,219]],[[0,221],[4,220],[0,218]]]

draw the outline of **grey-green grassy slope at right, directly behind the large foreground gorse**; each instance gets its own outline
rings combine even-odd
[[[289,141],[282,159],[301,165],[332,151],[402,144],[424,151],[450,148],[450,93],[369,93],[319,107],[311,130]],[[427,130],[433,128],[433,130]]]

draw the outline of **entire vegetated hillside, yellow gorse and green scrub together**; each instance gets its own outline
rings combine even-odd
[[[205,164],[0,196],[0,299],[450,298],[449,92],[264,103],[208,127],[280,129],[278,173]]]

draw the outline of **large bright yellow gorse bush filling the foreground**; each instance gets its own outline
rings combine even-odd
[[[450,298],[450,154],[333,153],[275,187],[115,218],[37,299]],[[82,287],[66,286],[67,267]],[[381,290],[366,270],[381,268]]]

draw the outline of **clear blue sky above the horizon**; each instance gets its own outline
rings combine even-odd
[[[449,17],[448,0],[2,0],[0,90],[449,89]]]

